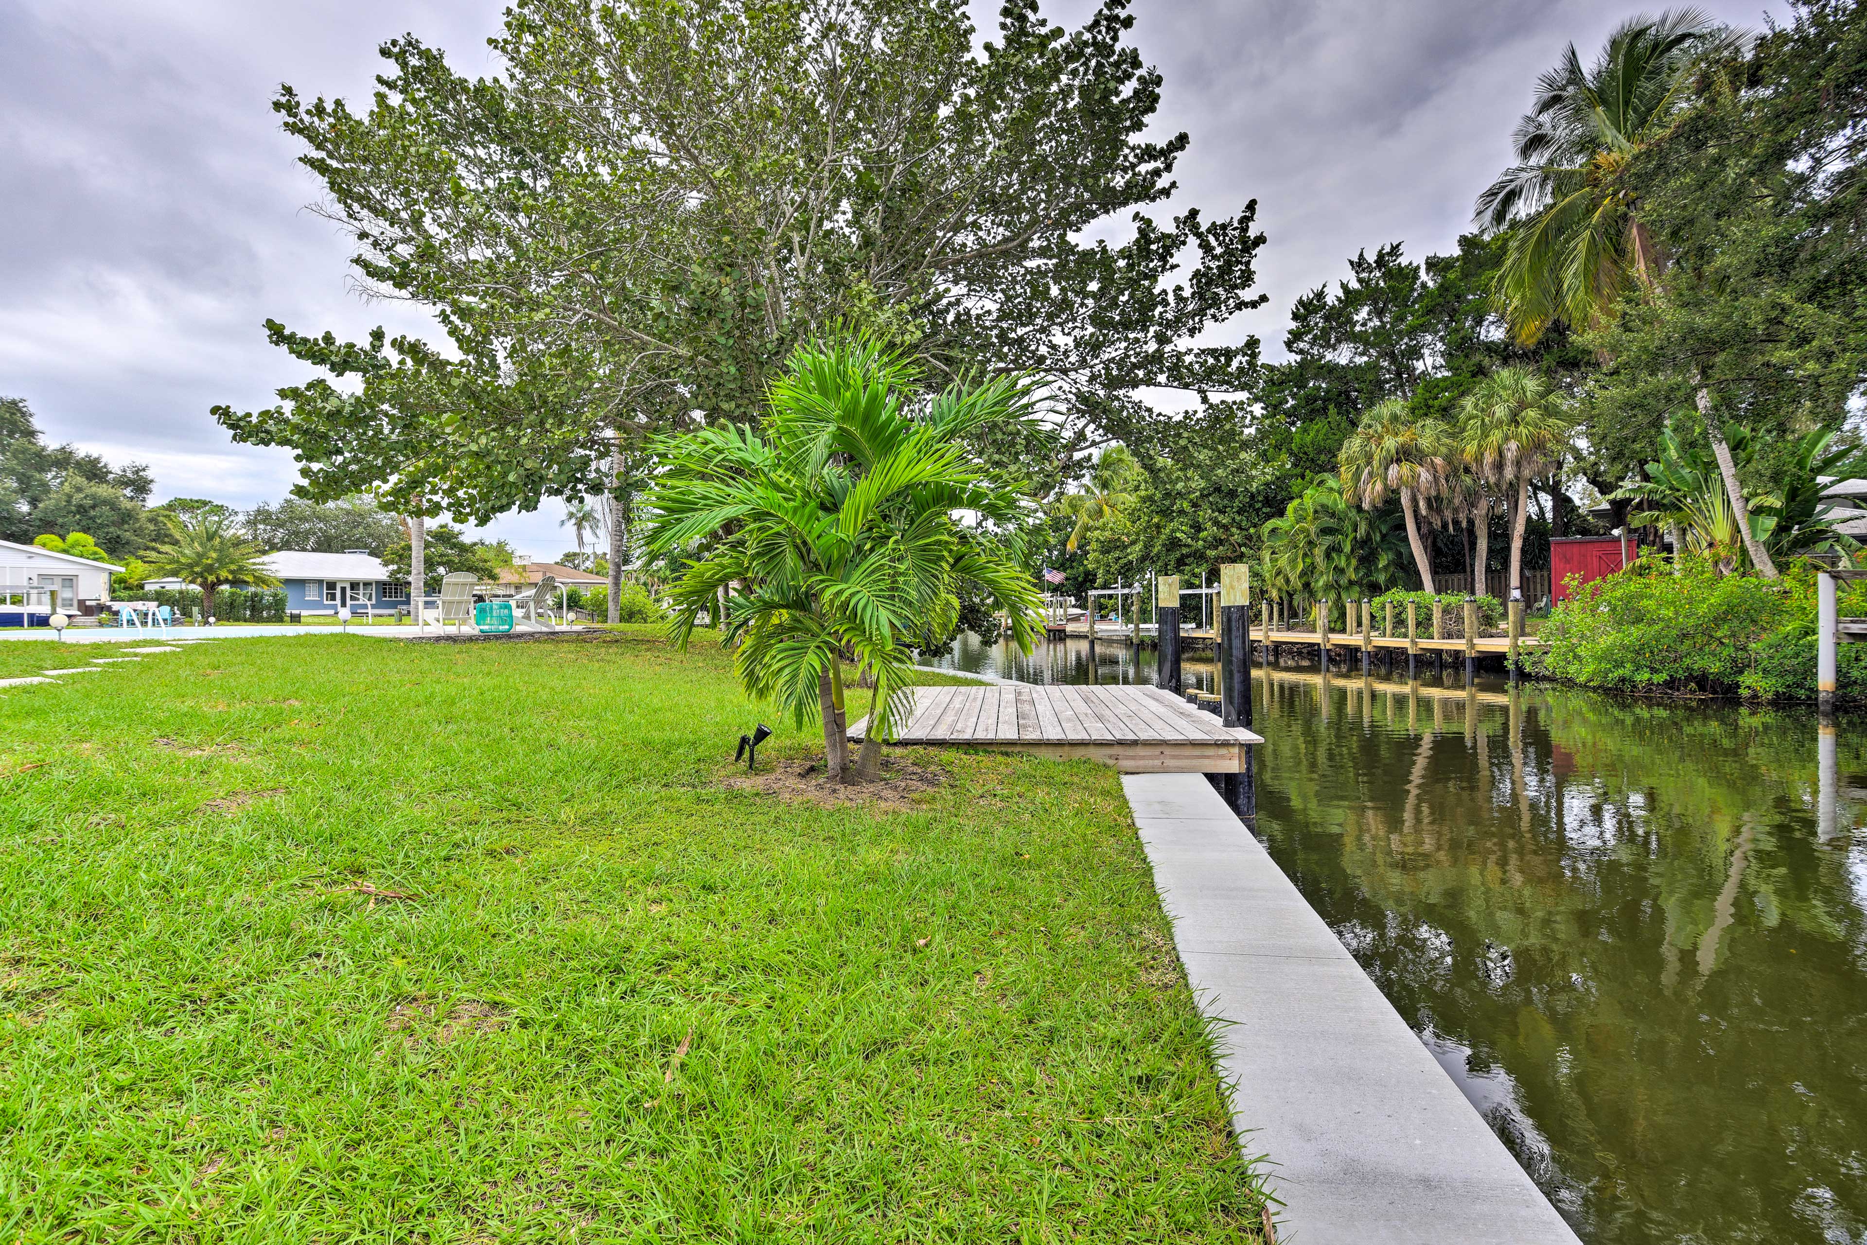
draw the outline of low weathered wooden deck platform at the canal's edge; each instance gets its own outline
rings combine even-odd
[[[891,743],[956,745],[1038,756],[1088,758],[1122,773],[1240,773],[1245,745],[1264,743],[1221,726],[1154,687],[917,687],[913,711]],[[849,730],[861,739],[863,719]]]

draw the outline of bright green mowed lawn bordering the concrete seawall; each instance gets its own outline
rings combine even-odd
[[[758,717],[648,629],[0,689],[0,1241],[1255,1239],[1115,775]]]

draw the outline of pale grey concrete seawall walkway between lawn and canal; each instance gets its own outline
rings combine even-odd
[[[1247,1154],[1298,1245],[1578,1245],[1200,775],[1122,775]]]

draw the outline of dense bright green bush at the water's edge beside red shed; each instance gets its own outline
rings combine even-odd
[[[1675,575],[1650,554],[1578,584],[1538,629],[1529,666],[1607,691],[1813,700],[1815,609],[1807,567],[1772,582],[1688,558]],[[1841,614],[1867,614],[1860,586]],[[1867,698],[1867,646],[1843,644],[1837,659],[1837,691]]]

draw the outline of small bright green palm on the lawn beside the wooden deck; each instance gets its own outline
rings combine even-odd
[[[711,536],[674,584],[672,635],[726,605],[723,644],[747,692],[823,722],[833,778],[846,776],[844,661],[876,696],[855,775],[874,776],[913,674],[911,646],[950,631],[971,586],[1029,651],[1042,601],[1023,566],[1032,504],[993,483],[965,448],[984,424],[1027,418],[1019,383],[956,385],[926,399],[915,373],[868,342],[792,355],[754,429],[715,424],[657,442],[648,547]]]

